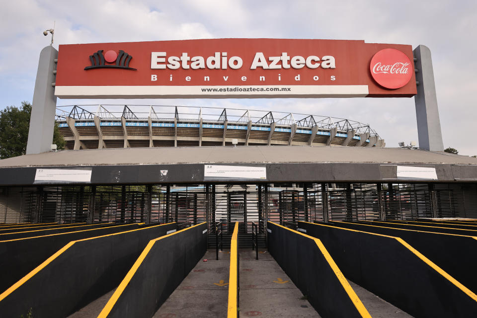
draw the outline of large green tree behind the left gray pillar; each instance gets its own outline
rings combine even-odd
[[[21,102],[21,107],[7,106],[0,110],[0,159],[21,156],[26,153],[28,130],[30,129],[31,103]],[[58,124],[53,131],[53,143],[58,150],[65,147],[65,139]]]

